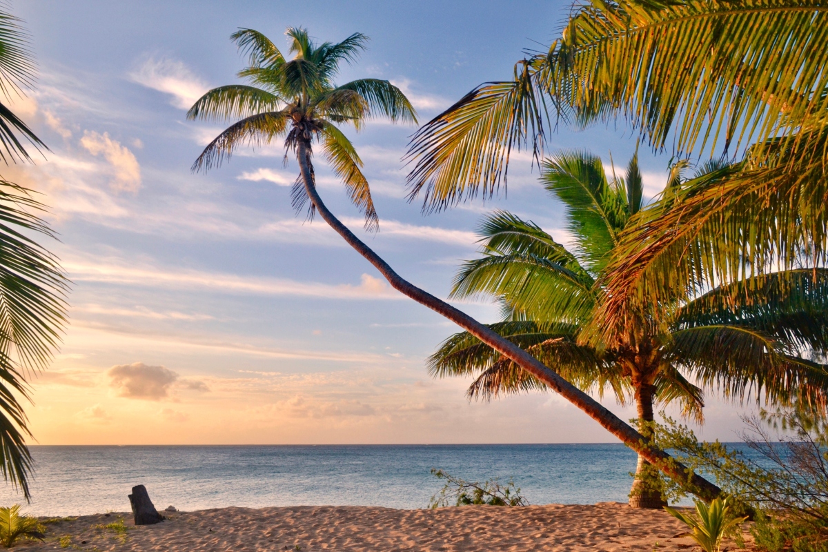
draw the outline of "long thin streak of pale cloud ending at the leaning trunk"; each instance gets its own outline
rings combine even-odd
[[[392,299],[402,300],[403,295],[393,290],[385,281],[363,274],[359,286],[351,284],[320,284],[236,276],[202,271],[166,271],[153,266],[118,266],[82,262],[64,262],[74,281],[96,281],[128,286],[148,286],[166,289],[192,290],[194,287],[225,293],[250,293],[254,295],[294,295],[325,299]]]

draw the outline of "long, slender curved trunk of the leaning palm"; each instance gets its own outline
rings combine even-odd
[[[546,385],[551,387],[552,390],[566,398],[567,401],[570,401],[573,405],[580,408],[580,410],[584,410],[587,415],[589,415],[593,420],[596,420],[601,426],[604,427],[605,430],[608,430],[609,433],[614,434],[629,448],[646,458],[647,461],[657,465],[664,473],[667,473],[667,475],[672,478],[686,481],[687,470],[685,466],[681,465],[681,463],[677,463],[664,451],[650,447],[647,443],[647,439],[645,439],[642,434],[639,434],[638,431],[633,429],[633,427],[624,423],[623,420],[604,408],[604,406],[601,406],[598,401],[595,401],[595,399],[587,395],[584,391],[580,391],[580,389],[570,384],[570,382],[567,382],[563,377],[559,376],[549,367],[544,366],[542,362],[532,357],[532,355],[524,351],[522,348],[517,347],[517,345],[508,339],[495,334],[491,329],[487,328],[483,324],[480,324],[468,314],[455,309],[455,307],[449,305],[443,300],[437,299],[434,295],[413,286],[411,283],[403,280],[402,277],[397,275],[397,272],[393,271],[391,266],[388,266],[387,262],[383,261],[383,259],[373,252],[370,247],[354,236],[354,233],[352,233],[343,223],[340,223],[339,219],[337,219],[327,209],[327,207],[325,207],[325,204],[322,202],[319,194],[316,193],[315,185],[310,175],[309,154],[310,141],[300,138],[296,144],[296,157],[299,161],[302,179],[305,181],[305,189],[308,197],[310,197],[310,202],[314,205],[315,209],[319,212],[325,222],[330,225],[330,228],[333,228],[336,233],[339,233],[339,235],[342,236],[342,238],[344,238],[344,240],[348,242],[351,247],[354,247],[360,255],[365,257],[368,262],[376,267],[395,290],[399,291],[403,295],[407,295],[417,303],[425,305],[429,309],[442,314],[445,318],[450,319],[452,322],[459,325],[460,328],[465,329],[469,332],[469,334],[474,335],[474,337],[479,338],[480,341],[489,345],[489,347],[503,354],[506,358],[510,358],[513,362],[517,363],[518,366],[522,367],[524,370],[546,383]],[[719,496],[721,492],[719,487],[716,487],[713,483],[696,474],[692,476],[691,483],[694,487],[696,487],[696,494],[705,500],[712,500],[713,498]]]

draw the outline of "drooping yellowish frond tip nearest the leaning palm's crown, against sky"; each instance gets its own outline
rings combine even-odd
[[[512,82],[487,83],[427,122],[412,137],[406,158],[408,199],[422,194],[423,211],[433,212],[487,198],[506,186],[509,154],[532,150],[542,156],[546,100],[521,62]]]

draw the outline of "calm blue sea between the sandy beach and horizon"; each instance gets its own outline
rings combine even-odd
[[[160,510],[223,506],[422,508],[442,487],[431,468],[472,481],[513,478],[532,504],[626,502],[636,456],[622,444],[341,446],[33,446],[26,510],[129,511],[133,485]],[[0,486],[0,504],[22,502]]]

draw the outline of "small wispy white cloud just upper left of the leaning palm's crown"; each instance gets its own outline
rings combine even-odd
[[[168,58],[144,61],[129,74],[129,78],[147,88],[171,94],[170,103],[181,109],[189,109],[209,89],[189,67]]]

